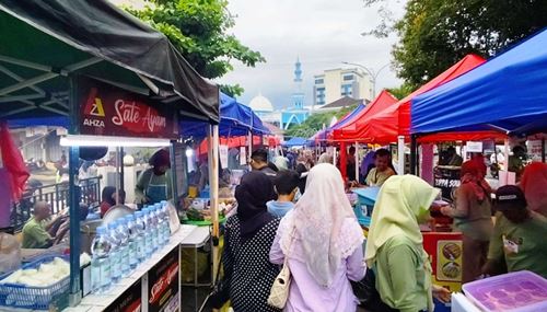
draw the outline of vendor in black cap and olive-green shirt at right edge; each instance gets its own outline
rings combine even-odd
[[[526,269],[547,278],[547,218],[526,208],[517,186],[500,187],[496,199],[499,212],[482,271],[496,275]]]

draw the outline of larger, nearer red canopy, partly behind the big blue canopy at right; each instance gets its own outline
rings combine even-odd
[[[358,130],[348,140],[359,140],[374,143],[391,143],[396,142],[398,136],[405,136],[406,139],[410,135],[410,100],[421,93],[434,89],[447,81],[459,77],[461,74],[474,69],[484,63],[486,60],[477,55],[467,55],[457,63],[423,84],[421,88],[397,102],[387,108],[371,115],[362,123],[358,124]],[[446,141],[446,140],[479,140],[504,137],[503,134],[497,131],[480,131],[480,132],[447,132],[433,134],[427,137],[421,137],[421,142]]]

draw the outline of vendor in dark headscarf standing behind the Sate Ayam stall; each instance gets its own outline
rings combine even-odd
[[[135,186],[137,204],[155,204],[173,197],[170,152],[166,149],[156,151],[149,163],[152,167],[140,174]]]

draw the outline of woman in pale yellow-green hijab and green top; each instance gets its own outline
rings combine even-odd
[[[403,312],[433,311],[433,299],[450,292],[431,284],[419,223],[427,220],[439,190],[414,175],[389,177],[372,212],[365,261],[376,276],[382,301]]]

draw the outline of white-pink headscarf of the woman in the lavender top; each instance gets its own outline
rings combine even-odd
[[[323,287],[330,287],[344,258],[362,244],[363,233],[344,192],[340,172],[331,164],[314,166],[307,175],[304,195],[288,220],[290,230],[281,236],[281,249],[288,255],[293,230],[300,238],[307,271]],[[287,217],[286,217],[287,218]],[[354,220],[344,229],[347,218]]]

